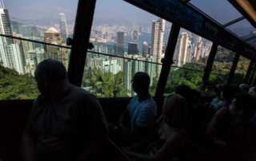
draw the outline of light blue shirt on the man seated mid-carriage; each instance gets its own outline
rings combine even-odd
[[[150,128],[154,124],[154,120],[157,116],[157,104],[150,96],[149,99],[138,101],[138,96],[134,96],[128,104],[126,110],[130,115],[130,128],[134,131],[134,126],[140,128]]]

